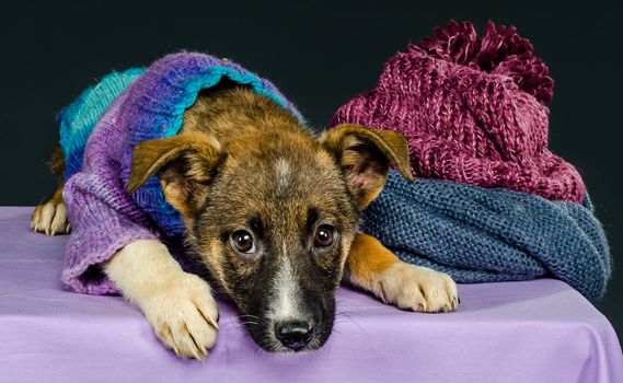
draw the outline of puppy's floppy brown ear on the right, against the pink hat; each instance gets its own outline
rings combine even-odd
[[[320,142],[337,159],[360,210],[383,189],[390,164],[413,181],[406,140],[395,131],[345,124],[325,131]]]

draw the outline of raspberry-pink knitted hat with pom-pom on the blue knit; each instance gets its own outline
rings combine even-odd
[[[437,27],[384,67],[377,89],[342,106],[350,123],[402,132],[416,176],[581,202],[577,170],[547,150],[554,81],[515,27]]]

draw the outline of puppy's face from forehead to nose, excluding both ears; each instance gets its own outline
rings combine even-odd
[[[331,334],[358,218],[328,153],[287,139],[230,146],[189,235],[253,339],[272,351],[318,348]]]

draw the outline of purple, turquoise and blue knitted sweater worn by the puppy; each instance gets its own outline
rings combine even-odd
[[[128,243],[183,234],[182,220],[155,176],[131,196],[125,189],[134,147],[177,134],[184,111],[201,89],[228,78],[275,100],[303,123],[275,85],[229,60],[182,53],[139,71],[104,78],[59,117],[61,146],[69,154],[64,198],[72,229],[61,279],[79,292],[117,292],[101,264]]]

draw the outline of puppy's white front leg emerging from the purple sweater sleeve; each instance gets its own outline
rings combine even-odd
[[[183,271],[166,246],[132,242],[106,263],[105,271],[166,347],[185,358],[208,355],[217,338],[217,302],[208,283]]]

